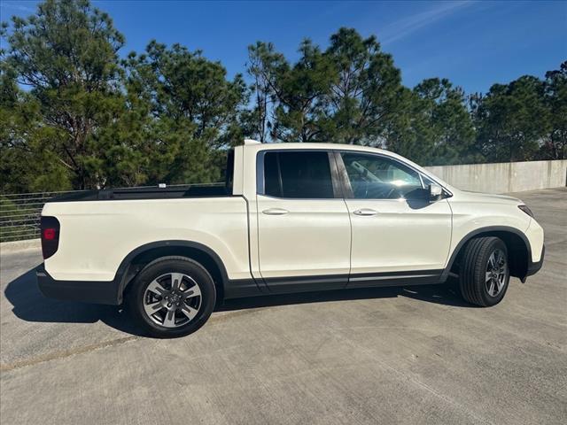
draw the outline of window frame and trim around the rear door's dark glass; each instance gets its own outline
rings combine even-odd
[[[277,173],[280,181],[280,197],[274,197],[266,194],[266,182],[264,177],[264,157],[268,152],[276,152],[277,155]],[[330,180],[333,189],[333,197],[283,197],[283,182],[282,173],[280,168],[281,152],[325,152],[327,153],[327,160],[329,161]],[[338,165],[333,154],[334,151],[328,149],[264,149],[256,153],[256,195],[262,197],[271,197],[273,199],[291,199],[298,201],[325,201],[330,199],[343,199],[343,187],[338,178]]]

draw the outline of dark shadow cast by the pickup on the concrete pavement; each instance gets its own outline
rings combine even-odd
[[[37,288],[35,268],[8,283],[4,295],[12,303],[12,312],[22,321],[41,321],[56,323],[95,323],[103,321],[106,325],[128,334],[142,336],[128,312],[117,305],[94,305],[58,301],[46,298]],[[323,303],[370,298],[407,297],[421,301],[474,308],[465,303],[454,282],[443,285],[423,285],[408,287],[369,288],[356,290],[329,290],[286,295],[270,295],[255,298],[227,300],[215,311],[245,310],[276,305]]]

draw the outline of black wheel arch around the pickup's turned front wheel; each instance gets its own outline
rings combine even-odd
[[[485,228],[477,228],[466,236],[464,236],[459,243],[457,243],[454,251],[447,262],[443,274],[441,274],[441,282],[445,282],[449,273],[458,270],[459,262],[462,256],[462,251],[466,243],[472,238],[479,236],[496,236],[506,244],[509,256],[510,275],[518,277],[524,282],[528,273],[528,265],[532,259],[532,247],[530,241],[524,235],[524,232],[517,228],[510,228],[508,226],[490,226]]]

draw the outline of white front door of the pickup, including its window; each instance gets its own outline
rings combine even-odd
[[[353,227],[349,286],[436,282],[451,243],[447,199],[424,198],[424,176],[395,158],[342,151],[337,161]]]

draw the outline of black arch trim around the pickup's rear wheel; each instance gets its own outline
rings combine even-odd
[[[122,260],[114,282],[117,283],[117,300],[118,304],[122,304],[122,299],[128,285],[134,280],[136,275],[151,261],[167,256],[182,256],[188,259],[194,259],[211,274],[214,286],[217,290],[217,299],[224,298],[224,285],[228,281],[226,267],[221,258],[212,249],[202,243],[168,240],[145,243],[142,246],[131,251],[125,259]]]

